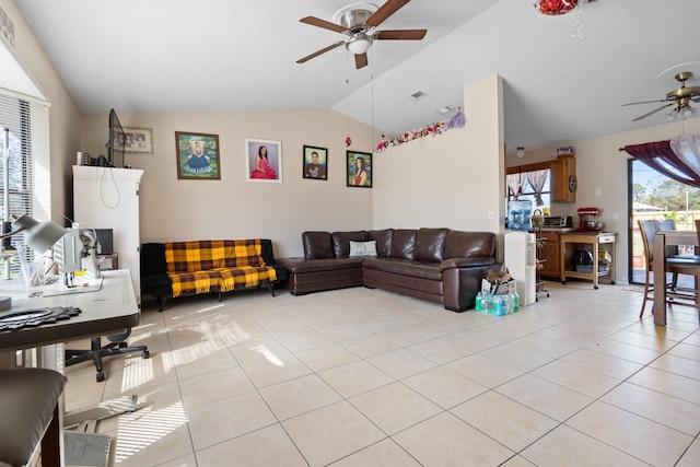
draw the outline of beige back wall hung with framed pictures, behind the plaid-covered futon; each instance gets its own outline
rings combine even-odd
[[[348,119],[331,109],[121,115],[122,126],[153,129],[153,154],[127,154],[144,171],[141,241],[266,237],[275,254],[302,255],[306,230],[372,227],[372,189],[346,186]],[[82,150],[105,152],[107,116],[82,120]],[[177,178],[175,131],[219,135],[221,180]],[[371,152],[380,131],[350,121],[350,150]],[[281,141],[282,183],[245,180],[245,139]],[[302,178],[303,145],[328,149],[328,180]],[[375,184],[380,183],[376,179]],[[78,220],[80,221],[80,219]]]

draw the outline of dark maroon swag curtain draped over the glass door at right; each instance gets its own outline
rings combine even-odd
[[[676,155],[669,140],[630,144],[625,151],[668,178],[700,188],[700,174]]]

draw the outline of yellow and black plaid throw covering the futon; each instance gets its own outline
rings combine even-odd
[[[277,275],[260,254],[258,238],[166,242],[165,262],[173,296],[269,284]]]

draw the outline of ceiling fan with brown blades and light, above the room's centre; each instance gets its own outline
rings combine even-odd
[[[359,70],[368,65],[368,50],[374,40],[420,40],[425,36],[425,30],[392,30],[375,31],[376,26],[382,24],[386,19],[396,13],[400,8],[406,5],[410,0],[387,0],[380,9],[372,12],[369,8],[373,5],[355,4],[341,10],[336,16],[339,16],[339,23],[331,23],[315,16],[305,16],[299,20],[302,23],[312,26],[323,27],[325,30],[335,31],[348,36],[345,40],[324,47],[304,58],[296,60],[303,63],[312,58],[318,57],[336,47],[345,44],[346,48],[354,54],[354,65]]]

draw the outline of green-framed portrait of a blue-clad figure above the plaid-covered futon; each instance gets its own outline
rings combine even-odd
[[[175,131],[177,178],[220,180],[219,135]]]

